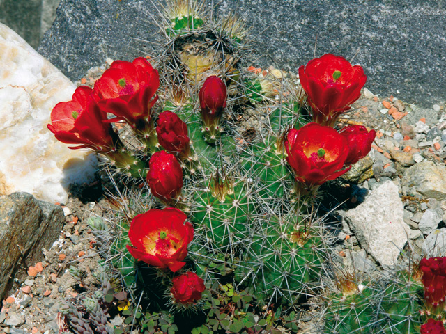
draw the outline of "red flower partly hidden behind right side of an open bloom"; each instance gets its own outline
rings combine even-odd
[[[376,136],[375,130],[368,132],[362,125],[344,127],[339,133],[346,137],[350,147],[345,163],[352,165],[369,154],[371,143],[374,142]]]

